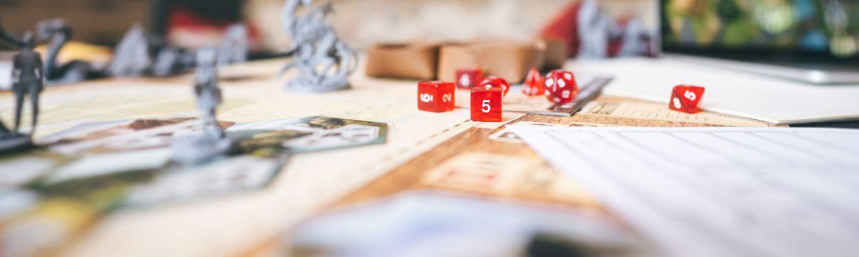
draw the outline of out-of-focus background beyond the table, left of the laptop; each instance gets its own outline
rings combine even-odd
[[[330,21],[341,39],[359,50],[406,39],[532,39],[575,2],[334,0],[336,15]],[[598,2],[610,15],[634,15],[651,28],[658,26],[657,1]],[[289,43],[280,24],[282,7],[281,0],[0,0],[0,24],[20,35],[39,21],[59,17],[74,28],[73,40],[115,45],[141,23],[176,45],[195,47],[216,42],[225,27],[243,21],[251,27],[254,50],[277,52]]]

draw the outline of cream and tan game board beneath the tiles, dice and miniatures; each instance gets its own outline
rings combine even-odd
[[[263,253],[272,246],[277,248],[278,238],[290,227],[326,207],[415,188],[602,212],[587,189],[551,170],[527,146],[491,140],[490,136],[503,132],[500,127],[515,120],[563,125],[750,125],[746,120],[712,114],[705,120],[697,120],[697,117],[648,117],[637,111],[617,111],[656,107],[648,102],[616,98],[598,99],[595,105],[603,107],[586,106],[585,112],[594,113],[573,117],[505,112],[502,123],[475,123],[462,108],[444,113],[417,111],[417,81],[364,77],[362,67],[350,77],[350,90],[283,93],[283,81],[272,79],[282,63],[283,60],[275,59],[222,67],[219,72],[224,101],[218,119],[241,124],[322,116],[385,123],[387,141],[296,153],[263,190],[111,212],[92,223],[82,222],[81,226],[91,225],[83,230],[82,237],[64,244],[58,253],[68,256]],[[51,140],[48,134],[85,123],[194,117],[193,93],[188,86],[191,79],[189,75],[111,79],[49,88],[42,94],[36,140]],[[11,97],[9,93],[0,94],[0,116],[10,117]],[[612,103],[623,103],[625,109],[606,111],[606,106]],[[477,159],[509,155],[515,155],[509,160],[515,169],[501,170],[503,179],[491,182],[490,187],[469,189],[472,182],[468,180],[445,178],[451,168],[472,167]]]

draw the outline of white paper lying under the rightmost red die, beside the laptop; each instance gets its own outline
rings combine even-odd
[[[576,61],[567,68],[612,75],[604,94],[666,105],[674,86],[705,87],[704,110],[766,123],[859,119],[859,85],[817,86],[670,58]]]

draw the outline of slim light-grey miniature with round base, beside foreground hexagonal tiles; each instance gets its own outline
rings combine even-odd
[[[217,51],[203,48],[197,51],[197,71],[194,75],[194,93],[197,109],[201,113],[200,133],[174,138],[173,160],[180,164],[198,164],[228,152],[230,141],[224,136],[216,119],[221,105],[221,89],[217,87]]]

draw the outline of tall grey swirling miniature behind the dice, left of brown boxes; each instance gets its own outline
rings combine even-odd
[[[313,0],[287,0],[283,5],[283,29],[292,39],[292,60],[277,73],[290,69],[298,74],[284,85],[292,92],[319,93],[349,88],[349,76],[357,67],[355,51],[340,41],[325,18],[332,13],[332,3],[311,9],[299,16],[300,7],[310,8]]]

